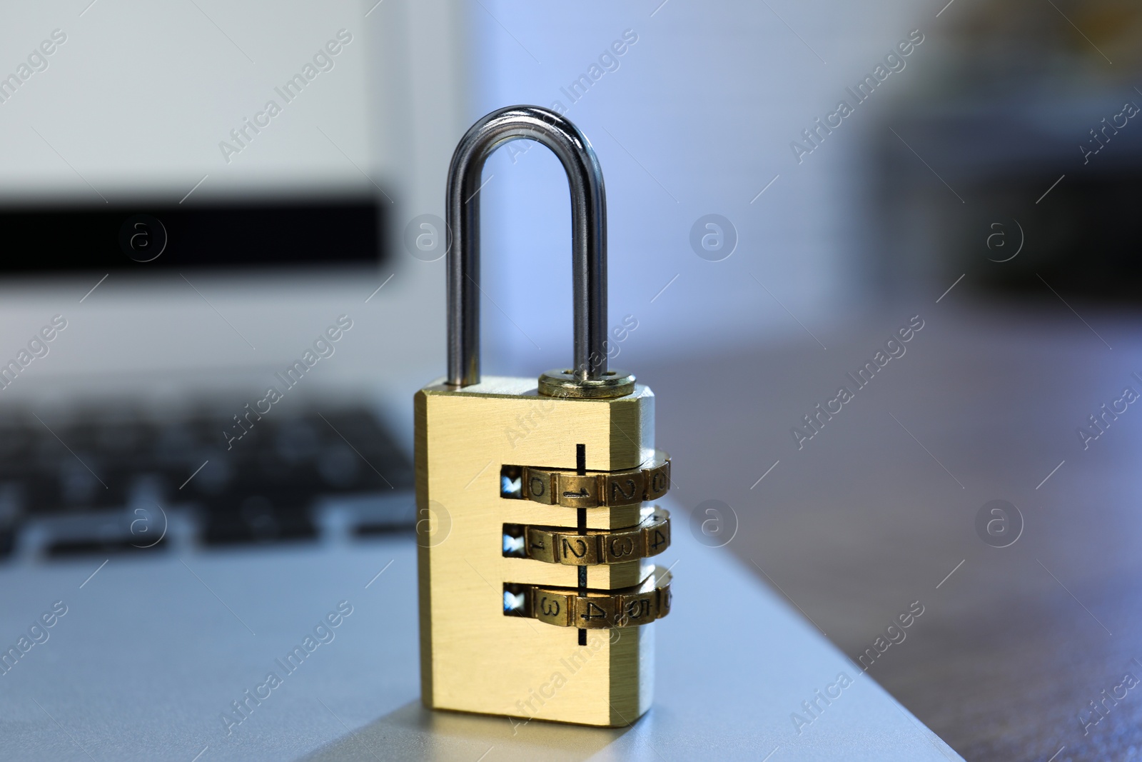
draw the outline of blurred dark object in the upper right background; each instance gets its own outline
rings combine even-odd
[[[1020,0],[941,21],[944,59],[876,131],[877,281],[940,292],[966,273],[997,295],[1136,300],[1142,6]]]

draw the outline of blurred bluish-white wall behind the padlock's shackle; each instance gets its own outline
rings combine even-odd
[[[514,103],[570,106],[606,178],[610,322],[627,313],[640,321],[628,358],[812,342],[773,297],[810,329],[863,298],[855,243],[864,231],[850,203],[862,192],[862,133],[893,90],[907,90],[924,46],[803,163],[789,143],[910,30],[938,31],[939,8],[910,0],[660,2],[472,5],[472,117]],[[619,69],[572,105],[561,87],[628,29],[638,41]],[[484,302],[485,346],[530,374],[570,359],[570,223],[557,161],[540,147],[514,158],[501,149],[485,169],[494,177],[483,191],[484,289],[507,313]],[[699,258],[689,242],[692,224],[709,212],[739,234],[723,262]]]

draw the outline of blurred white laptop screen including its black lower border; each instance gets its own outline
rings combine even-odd
[[[299,0],[6,11],[0,235],[19,254],[0,273],[378,262],[396,192],[364,22]]]

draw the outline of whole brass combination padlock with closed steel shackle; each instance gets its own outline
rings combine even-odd
[[[571,186],[574,364],[480,375],[480,178],[509,141],[550,149]],[[628,725],[651,704],[670,610],[670,486],[654,395],[606,367],[606,200],[587,138],[534,106],[488,114],[448,182],[448,377],[416,394],[425,706]]]

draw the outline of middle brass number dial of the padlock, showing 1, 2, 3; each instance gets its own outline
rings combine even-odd
[[[521,524],[505,524],[504,534],[523,540],[517,552],[505,552],[505,555],[574,567],[621,563],[649,559],[668,548],[670,514],[656,507],[637,527],[590,529],[586,535],[579,535],[573,529]]]

